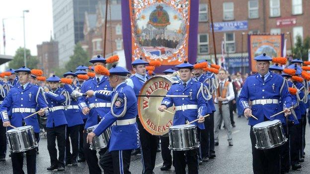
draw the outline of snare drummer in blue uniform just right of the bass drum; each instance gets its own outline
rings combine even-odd
[[[167,95],[188,95],[193,97],[188,98],[171,98],[164,97],[161,105],[158,107],[160,112],[163,112],[169,107],[175,106],[175,114],[173,117],[173,125],[185,124],[186,121],[193,121],[199,118],[197,125],[198,129],[204,129],[203,123],[206,114],[206,100],[204,97],[203,84],[191,79],[193,65],[184,61],[176,68],[179,69],[181,81],[174,83],[170,87]],[[185,156],[187,157],[189,174],[198,174],[198,150],[192,149],[188,151],[173,151],[173,164],[176,174],[185,174]]]

